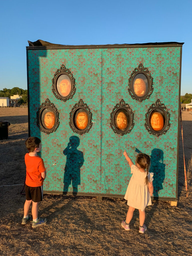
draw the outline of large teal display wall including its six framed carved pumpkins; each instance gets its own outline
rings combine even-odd
[[[42,141],[44,193],[122,197],[151,157],[154,198],[177,200],[182,43],[29,46],[29,135]]]

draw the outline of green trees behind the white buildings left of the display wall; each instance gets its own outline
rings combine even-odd
[[[12,89],[4,88],[3,90],[0,90],[0,97],[8,97],[18,94],[19,96],[22,96],[22,99],[20,99],[20,104],[27,104],[27,90],[23,90],[19,87],[13,87]]]

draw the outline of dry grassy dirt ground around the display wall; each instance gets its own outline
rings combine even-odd
[[[192,114],[182,113],[186,169],[192,153]],[[25,140],[28,110],[0,108],[0,120],[8,120],[9,137],[0,141],[0,255],[192,255],[192,193],[185,191],[183,145],[180,136],[178,204],[153,200],[146,209],[147,231],[138,233],[135,210],[131,230],[121,228],[127,205],[124,199],[44,195],[39,216],[46,225],[36,229],[21,225],[25,196]],[[191,172],[188,171],[188,185]]]

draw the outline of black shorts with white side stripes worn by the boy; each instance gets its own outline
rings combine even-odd
[[[41,202],[43,200],[43,186],[29,187],[25,184],[26,200],[32,200],[33,202]]]

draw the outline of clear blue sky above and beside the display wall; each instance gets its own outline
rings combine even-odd
[[[27,89],[27,40],[63,45],[184,42],[181,95],[192,93],[191,0],[2,1],[0,90]]]

